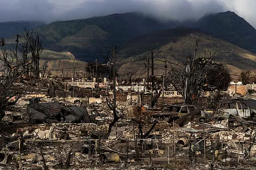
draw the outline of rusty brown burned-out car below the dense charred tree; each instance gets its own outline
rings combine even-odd
[[[162,109],[160,113],[155,113],[154,117],[169,117],[170,119],[178,119],[180,117],[184,117],[188,115],[192,111],[198,110],[198,108],[194,105],[170,105]],[[206,119],[207,113],[206,111],[200,111],[200,119]]]

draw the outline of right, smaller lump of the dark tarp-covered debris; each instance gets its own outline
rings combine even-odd
[[[61,109],[64,121],[68,123],[89,123],[90,118],[87,110],[78,106],[64,107]]]

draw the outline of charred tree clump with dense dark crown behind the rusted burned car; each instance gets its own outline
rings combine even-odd
[[[194,56],[188,57],[186,63],[174,67],[168,75],[168,81],[182,95],[184,103],[196,105],[198,98],[205,91],[226,90],[231,77],[229,70],[222,64],[214,61],[215,53],[204,57],[196,57],[198,41]]]

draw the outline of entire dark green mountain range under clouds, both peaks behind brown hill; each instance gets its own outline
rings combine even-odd
[[[184,25],[184,26],[179,26]],[[53,51],[70,51],[82,61],[103,60],[110,48],[118,50],[135,37],[179,26],[195,27],[207,34],[254,52],[256,30],[234,12],[221,12],[198,21],[162,22],[144,14],[130,12],[83,20],[58,21],[38,27],[44,47]],[[149,45],[150,46],[150,45]]]

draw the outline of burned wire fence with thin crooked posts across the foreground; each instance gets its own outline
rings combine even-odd
[[[140,140],[144,143],[143,151],[139,147]],[[102,164],[118,169],[122,166],[133,167],[135,164],[144,168],[195,168],[205,164],[204,168],[211,169],[221,166],[223,162],[237,166],[245,159],[252,158],[255,156],[255,144],[238,139],[202,139],[195,136],[175,140],[154,137],[56,141],[19,139],[16,144],[5,148],[1,159],[11,167],[20,166],[24,169],[44,166],[58,169],[100,169]]]

